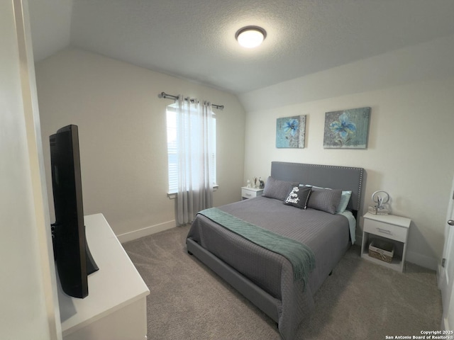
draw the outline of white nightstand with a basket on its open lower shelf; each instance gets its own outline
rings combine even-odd
[[[361,257],[368,261],[381,264],[395,271],[404,271],[406,242],[409,235],[411,220],[395,215],[364,215],[362,232]],[[383,239],[394,244],[392,263],[387,263],[369,256],[369,244],[372,239]]]

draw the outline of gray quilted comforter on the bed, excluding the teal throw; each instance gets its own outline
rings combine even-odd
[[[313,295],[350,246],[348,220],[314,209],[301,210],[273,198],[258,197],[219,207],[242,220],[314,251],[316,268],[304,288],[294,280],[292,265],[283,256],[249,242],[207,217],[198,215],[188,238],[228,263],[277,300],[279,333],[294,339],[301,320],[314,306]]]

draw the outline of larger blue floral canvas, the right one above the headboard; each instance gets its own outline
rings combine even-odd
[[[369,132],[370,108],[325,113],[325,149],[365,149]]]

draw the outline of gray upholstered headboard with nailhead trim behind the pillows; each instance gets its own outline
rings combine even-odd
[[[271,176],[274,179],[322,188],[351,190],[352,196],[347,208],[352,210],[355,216],[362,202],[363,174],[364,169],[348,166],[271,162]]]

